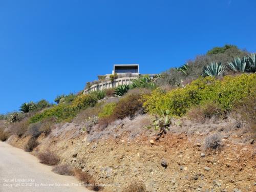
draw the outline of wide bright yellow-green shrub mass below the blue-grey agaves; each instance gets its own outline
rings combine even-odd
[[[235,101],[246,97],[255,86],[256,74],[225,76],[223,80],[214,77],[199,78],[185,88],[167,93],[154,90],[151,95],[143,96],[143,105],[149,113],[161,114],[162,109],[170,110],[171,115],[177,116],[207,102],[216,102],[222,110],[229,111]]]

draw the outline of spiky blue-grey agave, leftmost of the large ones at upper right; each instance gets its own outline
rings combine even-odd
[[[225,67],[221,64],[221,62],[212,62],[210,65],[207,65],[203,68],[202,76],[219,76],[223,73]]]

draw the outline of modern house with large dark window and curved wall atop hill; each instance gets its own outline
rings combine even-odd
[[[98,82],[85,89],[83,94],[87,94],[92,91],[102,91],[105,89],[116,88],[124,84],[131,84],[132,80],[137,79],[140,75],[138,64],[114,65],[111,74],[98,75]],[[144,75],[148,75],[151,78],[155,76],[155,74]]]

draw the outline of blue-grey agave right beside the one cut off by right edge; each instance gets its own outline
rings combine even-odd
[[[239,57],[236,57],[232,62],[228,62],[228,67],[234,72],[249,72],[249,58],[243,57],[241,59]]]

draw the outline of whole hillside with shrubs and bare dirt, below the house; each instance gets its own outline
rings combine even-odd
[[[255,58],[226,45],[130,85],[27,102],[1,117],[0,139],[95,191],[255,191]]]

